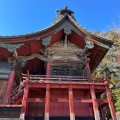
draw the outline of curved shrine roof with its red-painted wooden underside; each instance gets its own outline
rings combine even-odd
[[[7,49],[2,47],[2,44],[18,45],[23,43],[23,45],[17,49],[18,56],[29,56],[31,54],[39,53],[39,50],[44,48],[43,42],[45,42],[47,37],[51,36],[50,46],[63,38],[65,28],[70,28],[71,33],[68,35],[68,38],[78,47],[85,49],[86,38],[88,41],[94,43],[94,47],[92,49],[88,49],[88,52],[90,53],[89,58],[91,59],[90,68],[91,71],[93,71],[98,66],[113,42],[88,32],[76,22],[75,18],[71,14],[73,14],[73,12],[70,10],[59,12],[51,26],[35,33],[20,36],[0,36],[0,58],[7,59],[8,57],[13,56],[12,52],[9,52]],[[42,66],[42,61],[34,58],[33,60],[28,61],[23,71],[30,69],[33,73],[36,73],[38,69],[40,69],[40,66]]]

